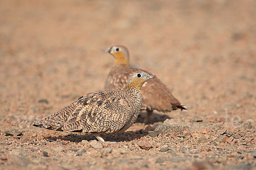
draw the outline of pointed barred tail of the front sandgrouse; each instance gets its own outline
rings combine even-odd
[[[73,113],[76,107],[77,107],[76,102],[73,102],[71,105],[68,105],[66,108],[62,109],[61,111],[58,111],[57,113],[44,117],[43,119],[40,119],[30,125],[49,129],[49,130],[61,130],[64,123],[67,121],[68,117]]]

